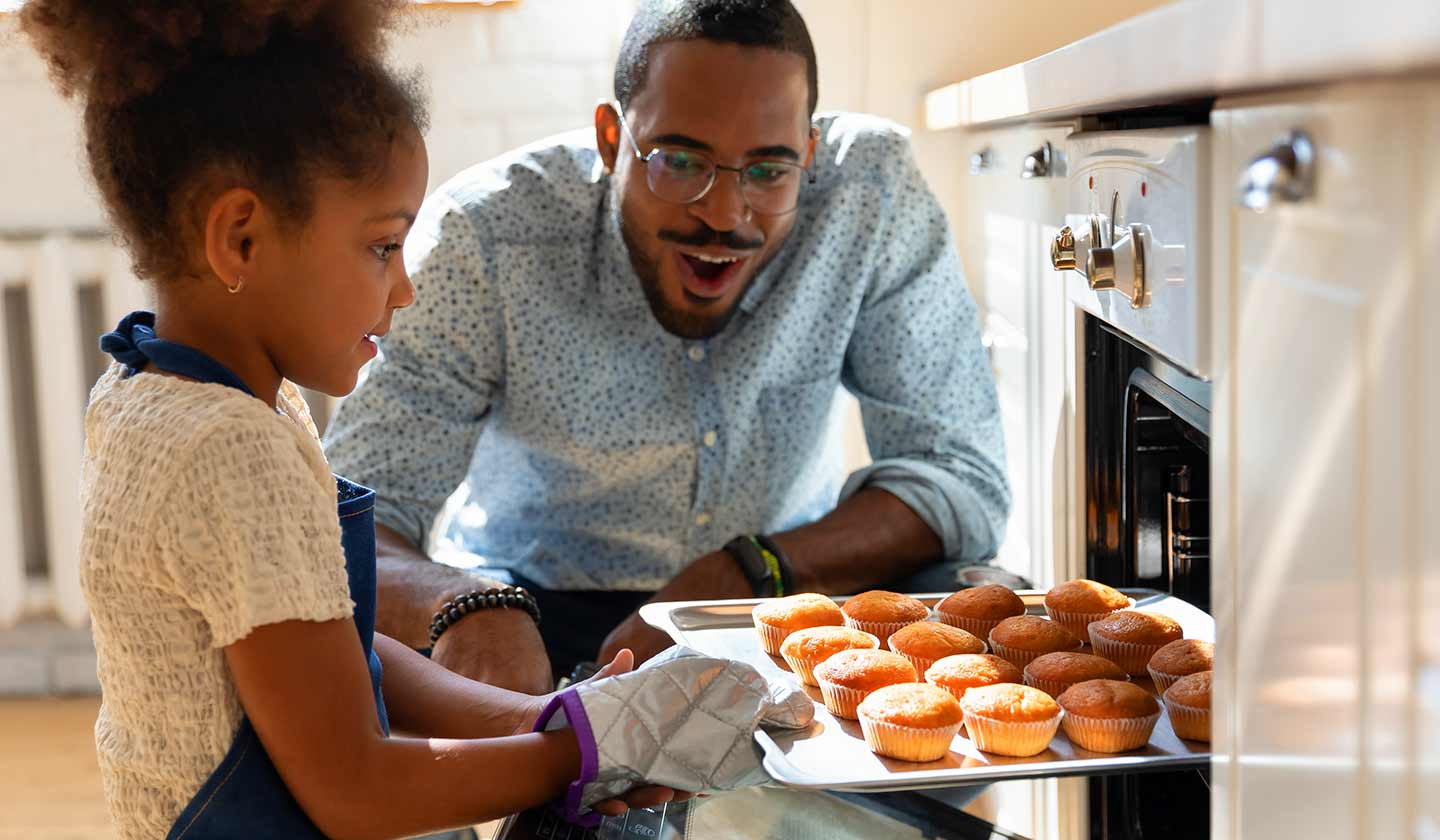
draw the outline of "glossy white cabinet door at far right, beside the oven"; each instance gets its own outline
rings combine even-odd
[[[1434,836],[1436,101],[1365,85],[1214,114],[1215,837]],[[1240,207],[1236,179],[1296,130],[1313,192]]]

